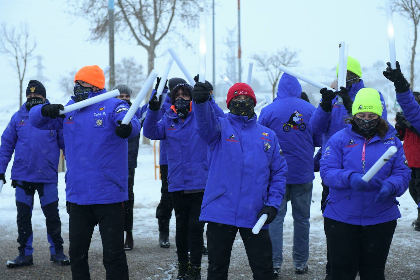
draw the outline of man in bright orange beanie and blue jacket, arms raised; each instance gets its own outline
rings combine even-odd
[[[97,65],[74,77],[68,105],[105,93],[105,76]],[[128,200],[128,142],[140,133],[136,116],[121,124],[127,102],[110,98],[60,114],[63,105],[33,107],[29,119],[41,129],[63,128],[66,145],[66,200],[69,217],[70,265],[73,279],[90,279],[88,251],[95,225],[103,246],[107,279],[128,279],[124,246],[124,208]]]

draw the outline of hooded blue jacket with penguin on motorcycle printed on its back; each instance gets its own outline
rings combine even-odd
[[[258,123],[277,134],[287,162],[288,184],[304,184],[315,178],[314,147],[322,145],[321,136],[314,135],[309,128],[315,106],[300,99],[301,93],[299,81],[284,73],[278,83],[277,97],[262,108],[258,118]]]

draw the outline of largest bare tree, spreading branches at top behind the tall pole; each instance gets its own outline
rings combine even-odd
[[[91,18],[92,40],[108,38],[108,0],[77,0],[68,1],[74,15],[87,15]],[[176,35],[176,44],[189,44],[186,38],[179,34],[173,22],[184,23],[186,27],[198,27],[198,0],[116,0],[114,26],[115,34],[129,37],[147,50],[147,73],[154,68],[156,47],[168,34]],[[177,26],[181,28],[181,26]],[[147,94],[146,100],[150,97]]]

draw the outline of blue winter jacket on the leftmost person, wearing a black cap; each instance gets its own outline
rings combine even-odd
[[[45,131],[34,127],[25,105],[26,102],[13,114],[1,136],[0,173],[5,173],[14,151],[12,180],[57,183],[60,149],[65,153],[63,131]]]

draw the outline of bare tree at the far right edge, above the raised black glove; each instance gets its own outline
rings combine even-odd
[[[417,45],[417,26],[420,23],[420,1],[419,0],[394,0],[392,1],[392,9],[398,12],[404,18],[412,21],[414,27],[414,38],[411,47],[410,59],[410,84],[411,88],[414,86],[414,61],[416,56]]]

